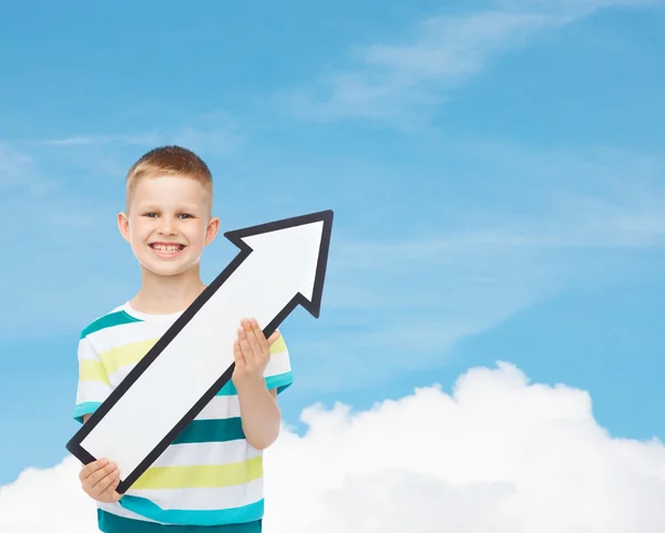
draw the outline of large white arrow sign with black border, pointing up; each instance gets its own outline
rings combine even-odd
[[[318,318],[331,228],[332,212],[324,211],[226,233],[241,253],[66,449],[85,464],[112,459],[124,493],[231,379],[242,318],[255,317],[266,337],[297,305]]]

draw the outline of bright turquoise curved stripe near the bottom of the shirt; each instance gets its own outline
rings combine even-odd
[[[168,524],[182,525],[225,525],[244,524],[263,519],[264,501],[263,499],[242,508],[221,509],[211,511],[187,511],[175,509],[162,509],[145,498],[132,496],[125,494],[121,498],[120,504],[134,513],[139,513],[147,519]],[[171,530],[170,530],[171,531]],[[260,530],[258,530],[260,531]]]

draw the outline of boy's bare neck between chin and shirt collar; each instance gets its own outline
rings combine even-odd
[[[205,289],[198,267],[175,276],[155,276],[142,269],[141,289],[130,301],[140,312],[168,315],[187,308]]]

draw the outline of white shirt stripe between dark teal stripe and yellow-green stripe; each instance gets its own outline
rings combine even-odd
[[[171,444],[152,464],[153,467],[196,467],[200,464],[229,464],[260,455],[260,450],[245,439],[228,442],[191,442]]]

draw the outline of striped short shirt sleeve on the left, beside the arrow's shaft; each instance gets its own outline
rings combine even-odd
[[[112,387],[98,352],[88,337],[79,341],[79,381],[74,420],[83,423],[85,414],[92,414],[111,394]]]

